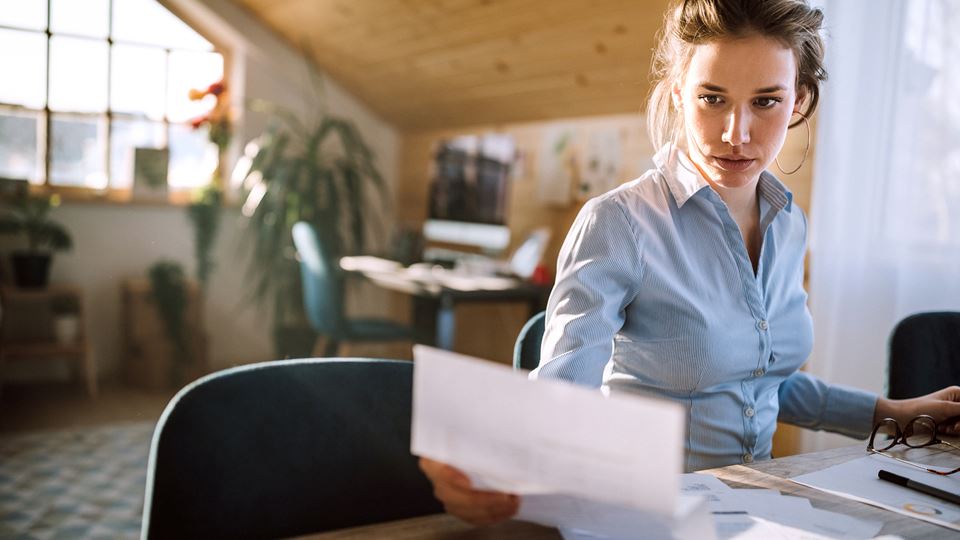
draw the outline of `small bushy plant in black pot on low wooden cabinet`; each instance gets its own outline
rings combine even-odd
[[[59,205],[59,195],[31,196],[23,190],[0,213],[0,233],[26,236],[26,250],[14,251],[11,255],[14,281],[18,287],[46,287],[52,252],[73,246],[66,227],[47,218],[50,210]]]

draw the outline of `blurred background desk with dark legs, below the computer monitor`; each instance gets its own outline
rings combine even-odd
[[[417,343],[453,350],[456,305],[464,302],[523,302],[529,316],[543,310],[549,287],[500,277],[446,273],[449,280],[417,276],[402,266],[365,265],[363,257],[344,257],[341,268],[363,276],[378,287],[413,297],[413,326]],[[511,336],[511,340],[516,336]],[[511,341],[512,342],[512,341]]]

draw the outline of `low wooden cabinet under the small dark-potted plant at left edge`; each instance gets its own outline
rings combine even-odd
[[[96,359],[87,340],[82,291],[71,285],[44,289],[0,288],[0,378],[11,362],[68,361],[76,378],[90,396],[97,395]],[[74,331],[57,333],[65,321],[63,309],[72,314]],[[61,324],[62,326],[62,324]]]

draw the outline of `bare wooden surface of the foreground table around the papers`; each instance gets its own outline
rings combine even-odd
[[[862,519],[882,521],[884,525],[880,534],[894,534],[910,539],[950,538],[955,534],[949,529],[925,521],[844,499],[787,480],[787,478],[793,476],[825,469],[864,455],[864,445],[857,444],[835,450],[774,459],[752,465],[732,465],[704,472],[713,474],[731,487],[778,489],[784,495],[806,497],[817,508]],[[359,540],[364,538],[391,538],[396,540],[487,540],[494,538],[504,540],[558,540],[560,534],[555,529],[517,521],[510,521],[496,527],[474,528],[449,515],[440,514],[344,529],[304,538],[323,540]]]

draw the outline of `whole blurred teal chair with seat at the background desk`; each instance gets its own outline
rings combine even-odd
[[[300,255],[303,305],[313,329],[326,339],[324,356],[336,356],[343,341],[399,341],[414,338],[413,328],[386,319],[348,319],[343,315],[343,272],[316,227],[293,226]]]

